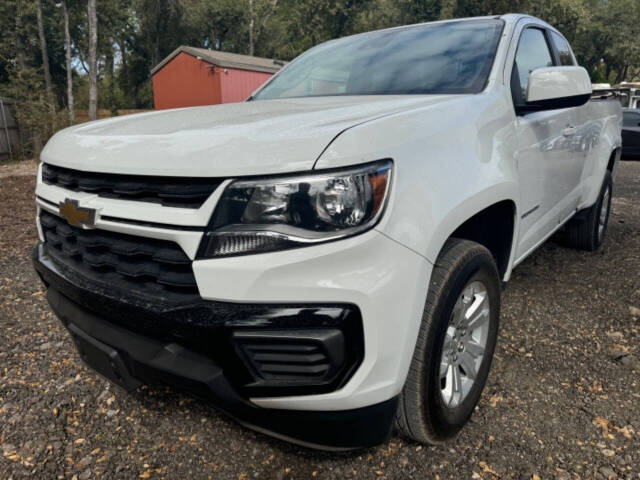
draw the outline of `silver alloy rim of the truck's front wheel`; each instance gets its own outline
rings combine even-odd
[[[480,370],[489,334],[490,305],[486,286],[469,283],[449,319],[440,357],[440,394],[449,408],[460,405]]]

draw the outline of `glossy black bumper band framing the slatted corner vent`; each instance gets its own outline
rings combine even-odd
[[[36,271],[83,309],[127,330],[162,342],[176,343],[219,363],[230,383],[246,396],[326,393],[343,386],[364,358],[360,310],[352,304],[236,304],[200,296],[144,296],[118,284],[101,283],[55,261],[47,244],[33,252]],[[344,336],[344,362],[331,376],[315,382],[257,381],[252,365],[238,352],[237,331],[339,329]]]

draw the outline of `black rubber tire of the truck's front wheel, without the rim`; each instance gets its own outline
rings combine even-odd
[[[488,334],[475,380],[460,404],[451,408],[441,395],[440,361],[453,308],[471,282],[486,286]],[[500,280],[495,261],[485,247],[450,239],[434,267],[411,367],[396,413],[401,434],[422,443],[438,444],[454,437],[475,408],[491,368],[500,318]]]

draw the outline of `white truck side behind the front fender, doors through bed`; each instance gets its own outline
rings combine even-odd
[[[518,39],[528,27],[559,33],[538,19],[519,19],[504,60],[505,91],[510,92]],[[576,211],[595,203],[611,154],[621,144],[619,112],[617,102],[592,100],[582,107],[515,118],[521,213],[514,264]]]

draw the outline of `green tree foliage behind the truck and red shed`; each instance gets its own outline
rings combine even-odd
[[[52,115],[45,98],[36,1],[0,1],[0,92],[18,102],[21,123],[44,141],[65,115]],[[67,102],[60,1],[41,0],[56,111]],[[67,0],[67,6],[74,95],[82,109],[88,103],[87,0]],[[556,26],[594,81],[639,78],[639,0],[97,0],[99,107],[152,107],[150,71],[179,45],[291,60],[353,33],[508,12]]]

